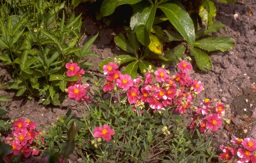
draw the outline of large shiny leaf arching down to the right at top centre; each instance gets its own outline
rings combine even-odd
[[[195,42],[195,29],[192,19],[186,12],[185,8],[177,1],[171,0],[172,3],[159,5],[160,8],[172,25],[180,32],[188,44],[193,47]]]

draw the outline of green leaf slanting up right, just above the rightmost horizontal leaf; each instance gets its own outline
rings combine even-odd
[[[215,21],[213,24],[208,28],[208,30],[203,27],[199,31],[196,32],[196,38],[206,35],[208,33],[217,32],[221,28],[225,28],[225,25],[223,25],[220,21]]]

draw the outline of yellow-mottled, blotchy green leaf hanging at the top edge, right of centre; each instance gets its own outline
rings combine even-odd
[[[209,27],[213,23],[213,18],[216,16],[216,7],[213,2],[203,0],[199,7],[199,16],[202,18],[203,25]]]

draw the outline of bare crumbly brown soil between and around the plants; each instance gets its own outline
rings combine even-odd
[[[103,59],[125,54],[124,51],[117,48],[113,38],[123,31],[123,25],[128,26],[129,17],[125,13],[131,13],[131,10],[122,11],[117,8],[115,13],[107,18],[111,20],[110,27],[103,27],[100,30],[100,26],[104,26],[103,20],[97,21],[95,12],[84,9],[87,5],[82,3],[75,10],[77,13],[83,11],[82,28],[86,29],[84,42],[99,31],[99,37],[93,44],[91,52],[97,53],[101,58],[92,57],[88,62],[96,64],[90,67],[89,71],[92,71],[96,77],[101,77],[102,74],[98,71],[98,63]],[[92,3],[92,5],[97,4]],[[253,126],[256,116],[252,116],[256,106],[256,89],[251,87],[251,84],[255,85],[256,83],[256,3],[254,0],[235,4],[216,3],[216,8],[216,21],[221,21],[226,26],[226,31],[220,30],[218,33],[214,33],[213,36],[232,37],[235,40],[235,47],[233,50],[224,53],[219,51],[210,53],[213,63],[212,70],[204,72],[194,64],[191,76],[201,80],[205,88],[203,93],[195,98],[195,105],[199,105],[204,98],[219,98],[223,103],[230,105],[230,110],[226,111],[225,118],[230,119],[231,123],[222,126],[217,132],[208,132],[206,136],[206,138],[213,136],[212,145],[217,152],[220,152],[219,146],[221,144],[228,145],[233,137],[253,137],[255,135],[253,133],[256,132],[256,125]],[[91,10],[94,9],[92,7]],[[234,14],[238,14],[236,19],[234,19]],[[173,69],[170,68],[170,70]],[[0,74],[4,76],[4,81],[11,79],[10,73],[8,68],[0,64]],[[93,94],[92,91],[90,93]],[[81,115],[76,103],[70,99],[64,100],[61,107],[52,105],[45,107],[38,104],[36,99],[28,100],[26,95],[15,97],[14,90],[2,90],[0,94],[13,98],[10,102],[0,103],[1,106],[5,105],[9,111],[9,114],[4,117],[6,120],[19,117],[29,118],[31,121],[38,123],[38,127],[40,127],[50,125],[59,114],[64,115],[69,108],[72,109],[72,114]],[[188,111],[188,116],[192,116],[191,113],[191,111]],[[250,131],[251,129],[252,131]],[[249,131],[250,134],[247,135]],[[8,132],[2,134],[7,136]],[[70,162],[77,161],[78,158],[76,154],[72,154]],[[41,162],[41,160],[31,158],[26,162]]]

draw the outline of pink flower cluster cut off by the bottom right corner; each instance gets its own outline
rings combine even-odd
[[[250,138],[240,139],[233,138],[231,143],[235,144],[235,147],[221,145],[222,154],[219,159],[232,161],[235,163],[256,163],[256,141]]]

